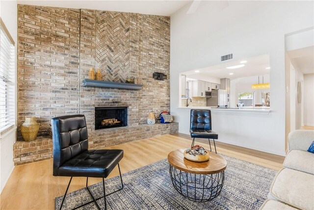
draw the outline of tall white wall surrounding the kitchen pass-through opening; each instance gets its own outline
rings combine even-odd
[[[186,14],[187,5],[171,16],[170,107],[179,132],[189,133],[189,112],[178,109],[181,72],[220,64],[229,53],[234,60],[269,54],[272,112],[214,114],[213,128],[219,141],[285,155],[285,34],[314,26],[314,2],[228,1],[222,10],[217,3],[201,1],[195,13]]]

